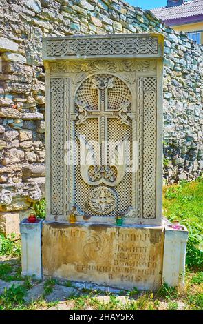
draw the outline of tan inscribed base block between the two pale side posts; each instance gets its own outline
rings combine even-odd
[[[163,227],[44,222],[43,274],[120,289],[162,283]]]

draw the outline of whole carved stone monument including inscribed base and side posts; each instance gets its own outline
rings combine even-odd
[[[162,221],[163,44],[160,34],[43,40],[47,217],[21,223],[23,274],[184,284],[187,231]]]

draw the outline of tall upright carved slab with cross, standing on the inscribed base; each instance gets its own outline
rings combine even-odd
[[[47,219],[160,225],[159,34],[47,38]]]

